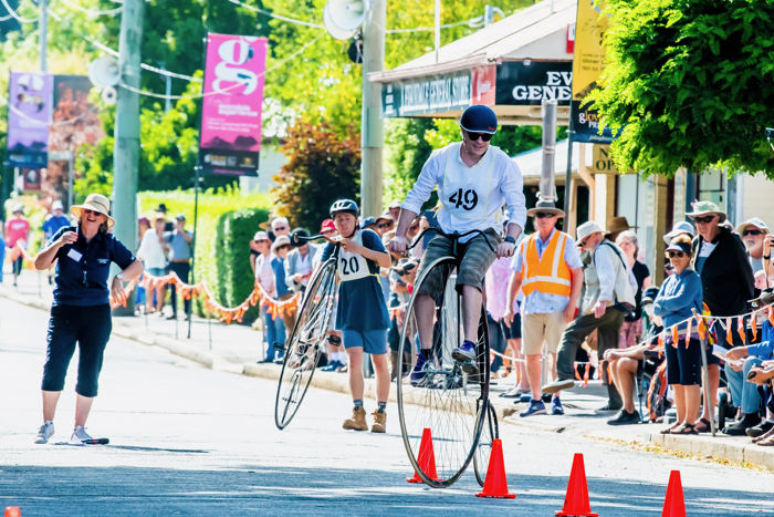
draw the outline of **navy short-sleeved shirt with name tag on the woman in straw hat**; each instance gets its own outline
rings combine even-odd
[[[86,242],[81,227],[66,226],[54,234],[46,247],[51,246],[65,231],[77,231],[77,240],[62,246],[56,251],[56,275],[54,276],[53,306],[93,307],[109,301],[107,277],[111,262],[122,270],[136,260],[113,234],[97,232]]]

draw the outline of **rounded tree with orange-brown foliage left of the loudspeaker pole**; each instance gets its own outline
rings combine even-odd
[[[281,151],[290,161],[274,176],[278,214],[294,227],[315,231],[334,199],[357,199],[360,143],[354,127],[342,137],[330,124],[297,121]]]

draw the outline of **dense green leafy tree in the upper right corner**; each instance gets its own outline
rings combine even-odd
[[[771,0],[607,0],[607,64],[590,95],[620,170],[764,170],[774,110]]]

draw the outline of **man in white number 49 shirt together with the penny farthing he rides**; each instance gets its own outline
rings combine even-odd
[[[406,307],[398,354],[412,351],[416,362],[408,375],[399,365],[397,390],[411,464],[425,483],[437,487],[454,483],[473,456],[478,461],[482,431],[495,437],[482,285],[496,257],[513,255],[526,219],[519,167],[490,145],[498,128],[494,112],[472,105],[462,113],[460,128],[462,142],[435,151],[422,167],[401,204],[396,236],[389,242],[396,254],[412,246],[406,232],[437,188],[440,228],[426,230],[436,236],[427,246]],[[504,237],[503,207],[510,221]],[[427,461],[430,440],[433,465]]]

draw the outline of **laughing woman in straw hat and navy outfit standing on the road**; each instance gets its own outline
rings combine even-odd
[[[79,219],[77,227],[61,228],[35,257],[39,271],[57,260],[43,366],[43,425],[35,440],[39,444],[48,443],[54,434],[56,402],[75,343],[79,345],[77,396],[75,428],[70,441],[77,445],[94,443],[84,427],[97,394],[103,354],[113,330],[109,297],[123,303],[128,296],[123,282],[143,272],[143,262],[107,231],[115,224],[108,216],[109,207],[105,196],[90,194],[83,205],[70,209]],[[108,290],[111,262],[122,272],[113,277]]]

